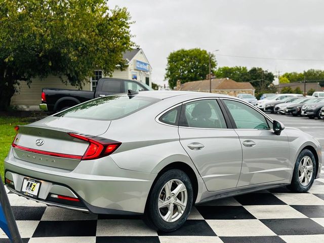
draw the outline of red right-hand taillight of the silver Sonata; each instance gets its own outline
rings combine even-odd
[[[120,142],[108,139],[100,139],[98,137],[83,136],[75,133],[68,133],[71,137],[86,141],[89,146],[82,156],[83,160],[96,159],[112,154],[119,146]]]

